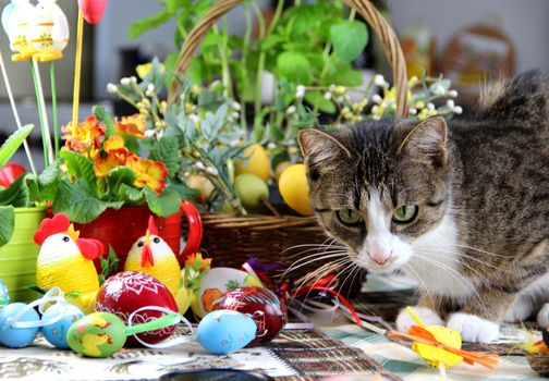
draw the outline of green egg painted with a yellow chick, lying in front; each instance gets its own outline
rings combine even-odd
[[[86,315],[66,333],[71,349],[87,357],[109,357],[124,346],[125,340],[124,322],[108,312]]]

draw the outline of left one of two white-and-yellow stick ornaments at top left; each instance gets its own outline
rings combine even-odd
[[[2,19],[5,19],[4,26],[7,26],[10,48],[15,52],[12,61],[29,60],[36,53],[28,38],[35,7],[29,0],[12,0],[10,5],[4,9]]]

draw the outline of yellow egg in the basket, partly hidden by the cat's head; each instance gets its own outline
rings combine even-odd
[[[282,172],[279,190],[290,208],[303,216],[314,214],[304,164],[290,165]]]

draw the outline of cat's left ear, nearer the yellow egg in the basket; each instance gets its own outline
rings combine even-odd
[[[300,131],[297,140],[310,168],[328,170],[341,160],[352,158],[351,151],[335,137],[315,128]]]

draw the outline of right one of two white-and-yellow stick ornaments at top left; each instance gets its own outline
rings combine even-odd
[[[59,60],[69,44],[69,22],[56,0],[38,0],[30,22],[29,40],[37,61]]]

